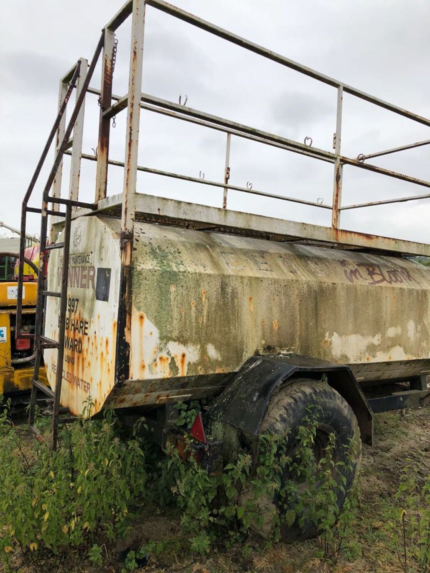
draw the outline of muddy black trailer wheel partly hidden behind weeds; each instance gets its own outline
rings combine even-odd
[[[318,462],[324,455],[330,435],[335,437],[335,449],[333,453],[334,462],[346,462],[351,439],[355,440],[356,448],[352,469],[346,471],[346,491],[353,485],[357,476],[361,461],[361,439],[357,423],[357,418],[349,404],[341,395],[328,384],[316,380],[300,378],[287,386],[280,387],[276,394],[272,395],[267,407],[263,422],[261,423],[260,434],[280,433],[287,428],[288,434],[287,455],[294,458],[295,449],[298,446],[296,439],[298,427],[303,424],[303,418],[308,415],[308,409],[312,405],[319,405],[318,427],[316,429],[314,456]],[[284,474],[281,481],[285,482],[291,476]],[[305,484],[299,485],[299,490],[306,488]],[[345,502],[346,493],[338,488],[337,502],[341,508]],[[243,492],[240,494],[239,503],[245,504],[248,499],[253,499],[252,485],[245,484]],[[291,543],[296,540],[309,539],[316,533],[315,525],[312,521],[305,520],[300,526],[296,519],[292,525],[287,525],[283,519],[283,512],[286,508],[280,509],[277,497],[269,499],[258,499],[257,505],[263,517],[263,523],[257,525],[252,523],[253,530],[262,537],[269,537],[275,527],[276,515],[280,518],[280,535],[283,541]],[[286,500],[283,500],[284,504]],[[288,508],[294,508],[296,500],[288,501]]]

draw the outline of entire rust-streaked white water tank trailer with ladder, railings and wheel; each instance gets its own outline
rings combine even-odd
[[[189,107],[187,102],[142,93],[144,13],[154,9],[333,87],[334,149],[323,150],[309,138],[301,143]],[[115,95],[115,30],[128,17],[132,21],[128,92]],[[98,88],[91,78],[99,60]],[[41,269],[48,260],[46,276],[43,272],[38,276],[37,356],[29,419],[35,433],[37,389],[53,402],[53,448],[58,425],[83,413],[99,415],[105,406],[143,414],[161,442],[168,439],[179,446],[184,438],[175,426],[175,405],[210,399],[212,406],[203,419],[196,418],[191,435],[198,460],[216,472],[223,464],[234,463],[244,449],[256,456],[262,433],[288,427],[294,442],[303,416],[318,404],[315,457],[323,456],[333,434],[334,455],[343,461],[347,445],[355,439],[354,463],[347,474],[348,484],[353,482],[361,441],[372,444],[374,413],[417,405],[427,395],[430,273],[418,258],[430,256],[430,246],[342,229],[342,210],[375,205],[381,210],[385,203],[423,199],[417,194],[342,205],[342,171],[365,169],[388,181],[397,178],[425,187],[430,183],[369,161],[415,144],[358,158],[342,155],[344,92],[430,126],[424,117],[163,0],[127,2],[108,22],[92,60],[80,58],[60,81],[58,114],[22,207],[23,232],[29,211],[42,215]],[[97,96],[99,133],[96,152],[91,154],[82,148],[84,108],[97,105]],[[67,105],[72,105],[68,123]],[[124,162],[109,155],[112,118],[121,111],[127,115]],[[146,135],[142,125],[139,134],[143,113],[187,121],[225,138],[224,178],[208,180],[138,164],[139,138]],[[250,183],[233,185],[230,146],[237,138],[333,164],[333,201],[274,194],[253,189]],[[41,209],[34,209],[28,202],[53,140],[54,163]],[[67,197],[60,192],[64,155],[71,156]],[[83,160],[95,162],[92,203],[79,197]],[[123,189],[109,187],[108,193],[108,172],[119,168],[123,168]],[[189,182],[190,189],[206,189],[212,198],[218,189],[219,206],[156,197],[149,184],[139,193],[140,172],[168,181],[181,179]],[[241,210],[229,209],[232,192],[243,198]],[[248,198],[259,196],[270,198],[278,213],[282,209],[288,213],[294,202],[329,210],[331,225],[245,212]],[[22,288],[22,268],[20,274]],[[18,292],[18,325],[20,300]],[[42,355],[48,388],[39,380]],[[339,503],[342,499],[339,492]],[[282,517],[276,500],[270,504]],[[308,531],[297,524],[294,528],[295,535]],[[285,539],[292,529],[284,528]]]

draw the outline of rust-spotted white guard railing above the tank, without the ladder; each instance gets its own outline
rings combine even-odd
[[[259,54],[271,61],[277,62],[280,65],[286,66],[296,72],[304,74],[312,79],[315,79],[323,84],[330,85],[337,90],[337,115],[336,127],[333,137],[334,151],[326,151],[318,147],[307,146],[305,143],[283,138],[282,136],[272,134],[261,129],[256,129],[249,125],[237,123],[224,117],[219,117],[194,109],[186,107],[185,105],[174,103],[141,92],[142,82],[142,68],[143,68],[143,37],[144,37],[144,15],[146,5],[160,10],[163,13],[169,14],[172,17],[178,18],[183,22],[196,26],[206,32],[222,38],[232,44],[241,46],[250,52]],[[114,72],[114,42],[115,32],[120,25],[131,15],[131,49],[130,49],[130,70],[128,80],[128,92],[124,96],[114,95],[112,93],[112,78]],[[368,171],[376,172],[381,175],[386,175],[392,178],[404,180],[406,182],[415,183],[416,185],[430,187],[430,182],[423,179],[417,179],[412,176],[378,167],[373,164],[364,163],[364,160],[371,157],[386,155],[396,151],[419,147],[430,143],[430,140],[425,142],[417,142],[408,146],[394,148],[392,150],[381,151],[375,154],[360,155],[357,159],[352,159],[341,154],[341,134],[342,134],[342,101],[343,94],[348,93],[354,97],[358,97],[364,101],[368,101],[378,107],[384,108],[388,111],[396,113],[397,115],[406,117],[417,123],[427,125],[430,127],[430,119],[416,115],[406,109],[400,108],[396,105],[390,104],[387,101],[374,97],[366,92],[358,90],[350,85],[342,83],[330,76],[316,72],[316,70],[308,68],[298,62],[290,60],[281,54],[272,52],[254,42],[246,40],[237,34],[231,33],[228,30],[220,28],[196,15],[173,6],[164,0],[128,0],[114,15],[114,17],[107,23],[104,30],[104,46],[103,46],[103,70],[101,74],[101,89],[88,87],[87,92],[99,96],[100,103],[100,120],[99,120],[99,139],[97,145],[96,157],[88,154],[81,154],[81,158],[87,160],[97,161],[97,175],[96,175],[96,193],[95,202],[102,203],[107,197],[107,172],[108,166],[114,165],[124,168],[124,183],[122,194],[122,223],[121,223],[121,240],[122,240],[122,261],[124,270],[131,265],[132,257],[132,241],[134,236],[134,216],[135,216],[135,194],[136,194],[136,180],[137,172],[143,171],[150,174],[167,176],[186,180],[193,183],[200,183],[212,187],[220,187],[223,190],[222,207],[227,208],[228,190],[240,191],[243,193],[260,195],[263,197],[282,199],[284,201],[301,203],[312,207],[320,207],[322,209],[331,209],[332,220],[331,228],[340,230],[340,215],[342,210],[358,209],[360,207],[385,205],[386,203],[397,203],[412,201],[416,199],[427,199],[430,194],[414,195],[412,197],[402,197],[398,199],[387,199],[385,201],[373,201],[369,203],[357,203],[357,205],[341,205],[342,199],[342,172],[346,165],[358,167]],[[109,139],[110,139],[110,120],[120,111],[127,109],[127,123],[126,123],[126,152],[124,162],[112,160],[109,158]],[[153,169],[146,166],[139,166],[137,163],[138,145],[139,145],[139,118],[140,109],[148,112],[160,113],[174,119],[180,119],[189,123],[201,125],[202,127],[214,129],[216,131],[224,132],[226,134],[225,146],[225,166],[224,178],[222,181],[202,180],[200,178],[188,175],[181,175],[169,171],[162,171]],[[331,205],[320,204],[319,202],[306,201],[305,199],[286,197],[284,195],[276,195],[267,193],[260,190],[251,190],[242,186],[234,186],[229,184],[230,178],[230,145],[232,136],[244,138],[263,143],[268,146],[281,148],[286,151],[299,153],[301,155],[309,156],[314,159],[319,159],[324,162],[332,163],[334,168],[333,175],[333,202]],[[69,154],[66,151],[66,154]],[[61,175],[60,175],[61,177]],[[76,172],[75,172],[76,178]],[[395,240],[393,240],[395,241]],[[394,249],[395,250],[395,249]],[[127,314],[127,312],[126,312]]]

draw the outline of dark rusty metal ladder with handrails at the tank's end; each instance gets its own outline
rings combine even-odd
[[[77,80],[80,77],[80,66],[81,60],[76,64],[75,70],[72,74],[71,80],[68,84],[67,90],[64,95],[64,99],[58,109],[58,115],[54,121],[54,125],[50,131],[48,140],[45,144],[44,150],[37,164],[36,170],[34,171],[33,178],[30,181],[30,185],[25,194],[24,201],[22,202],[22,213],[21,213],[21,241],[19,245],[19,272],[18,272],[18,295],[17,295],[17,319],[16,319],[16,336],[21,338],[31,338],[34,340],[34,348],[36,351],[35,362],[34,362],[34,375],[32,380],[32,393],[30,398],[29,406],[29,428],[36,434],[38,439],[44,439],[37,428],[34,426],[34,417],[36,413],[36,396],[37,391],[41,391],[46,394],[50,400],[52,400],[52,430],[51,430],[51,448],[56,450],[57,448],[57,438],[58,438],[58,425],[60,423],[75,421],[76,417],[63,417],[62,414],[67,414],[67,408],[60,407],[60,396],[61,396],[61,383],[62,383],[62,363],[64,358],[64,338],[65,338],[65,322],[67,313],[67,286],[68,286],[68,273],[69,273],[69,252],[70,252],[70,238],[71,238],[71,223],[72,223],[72,207],[83,207],[85,209],[96,209],[95,203],[84,203],[80,201],[75,201],[72,199],[65,199],[61,197],[53,197],[49,195],[50,189],[53,185],[54,178],[56,176],[58,167],[60,166],[64,152],[71,146],[72,140],[71,135],[73,127],[75,125],[76,118],[79,114],[80,108],[83,104],[85,93],[87,92],[89,81],[91,80],[94,68],[96,66],[97,60],[99,58],[101,49],[103,48],[104,33],[101,34],[99,44],[95,50],[94,56],[89,65],[88,72],[83,70],[83,85],[77,95],[75,108],[71,114],[71,118],[65,128],[64,137],[61,143],[57,146],[57,153],[54,160],[52,169],[46,181],[44,191],[42,194],[42,206],[41,209],[35,209],[34,207],[29,207],[28,202],[32,195],[34,185],[36,184],[38,175],[40,174],[41,168],[45,162],[46,155],[48,154],[49,148],[54,140],[57,132],[59,133],[59,126],[61,123],[62,116],[64,115],[68,101],[70,99],[73,89],[77,85]],[[87,73],[85,73],[87,72]],[[49,203],[52,203],[53,210],[48,209]],[[64,205],[65,211],[55,210],[56,205]],[[39,272],[37,279],[37,304],[36,304],[36,323],[34,335],[31,333],[21,332],[21,321],[22,321],[22,289],[24,285],[24,250],[25,250],[25,230],[26,230],[26,215],[27,213],[38,213],[41,215],[41,227],[40,227],[40,254],[39,254]],[[48,239],[48,215],[53,215],[54,217],[64,217],[64,241],[56,242],[46,245]],[[49,256],[50,250],[53,249],[63,249],[63,265],[61,271],[61,289],[58,292],[46,290],[46,276],[45,268],[46,261]],[[58,297],[60,299],[60,320],[58,325],[59,338],[58,340],[49,339],[44,335],[45,332],[45,310],[46,301],[48,297]],[[47,348],[57,349],[57,362],[56,362],[56,385],[55,389],[52,390],[48,386],[45,386],[40,379],[40,367],[42,363],[42,352]]]

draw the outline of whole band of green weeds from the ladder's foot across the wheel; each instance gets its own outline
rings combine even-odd
[[[91,401],[86,407],[91,408]],[[198,403],[178,409],[181,425],[189,428]],[[172,446],[166,456],[157,458],[147,438],[138,437],[137,426],[131,436],[120,435],[111,409],[105,410],[103,419],[83,418],[62,427],[56,452],[48,443],[32,441],[26,448],[6,408],[0,409],[0,559],[8,567],[12,555],[21,554],[26,563],[60,562],[76,552],[101,567],[102,548],[107,553],[106,547],[126,535],[133,509],[143,504],[167,515],[179,512],[190,551],[203,555],[214,547],[236,546],[247,558],[252,551],[249,534],[261,529],[266,517],[263,499],[274,501],[272,527],[263,545],[280,539],[283,523],[311,520],[318,532],[318,556],[334,562],[343,547],[354,551],[344,543],[357,505],[357,492],[346,492],[344,477],[354,446],[350,461],[335,462],[331,436],[317,463],[317,425],[315,407],[299,428],[294,456],[288,453],[288,430],[265,434],[258,440],[257,460],[240,451],[222,474],[211,476],[193,456],[190,437],[187,461]],[[350,494],[342,511],[339,488]],[[124,571],[134,571],[144,556],[178,548],[175,540],[149,541],[128,552]]]

